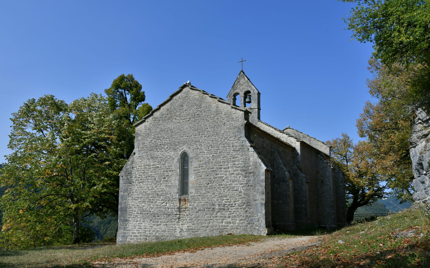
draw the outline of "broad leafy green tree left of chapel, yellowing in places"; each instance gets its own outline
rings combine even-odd
[[[8,187],[1,198],[6,241],[79,243],[84,217],[109,214],[117,204],[122,122],[96,94],[70,105],[52,95],[30,99],[11,120],[13,152],[1,175]]]

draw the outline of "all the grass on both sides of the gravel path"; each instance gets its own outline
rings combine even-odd
[[[313,230],[276,235],[323,235],[322,243],[273,260],[275,267],[311,268],[405,268],[430,267],[430,218],[421,209],[356,223],[335,232]],[[133,256],[160,256],[179,251],[195,251],[207,247],[246,244],[264,236],[224,235],[181,240],[145,242],[117,246],[104,241],[60,247],[0,252],[2,268],[91,267],[98,259]]]

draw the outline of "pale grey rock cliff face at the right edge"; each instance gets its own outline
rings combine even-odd
[[[430,115],[419,108],[412,124],[410,154],[415,179],[414,199],[430,203]]]

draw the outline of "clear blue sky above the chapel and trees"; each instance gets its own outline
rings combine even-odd
[[[133,74],[154,108],[182,83],[226,98],[241,66],[261,120],[326,141],[348,133],[366,100],[369,43],[352,41],[336,0],[3,0],[0,156],[11,114],[31,98],[71,102]]]

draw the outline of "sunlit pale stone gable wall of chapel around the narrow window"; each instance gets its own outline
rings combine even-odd
[[[245,138],[244,114],[185,87],[136,127],[133,167],[121,173],[120,244],[267,233],[265,168]],[[183,151],[187,198],[178,196]]]

